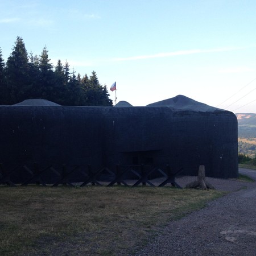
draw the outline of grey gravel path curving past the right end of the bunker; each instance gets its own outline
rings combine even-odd
[[[250,176],[256,180],[256,171],[250,172]],[[176,182],[183,187],[195,179],[180,177]],[[232,193],[170,222],[135,255],[256,256],[256,183],[209,177],[207,181],[216,189]]]

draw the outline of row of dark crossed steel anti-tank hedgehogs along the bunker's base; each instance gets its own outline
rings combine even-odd
[[[181,188],[176,183],[175,177],[180,174],[180,170],[172,172],[169,164],[162,170],[159,167],[138,164],[121,165],[117,164],[115,170],[108,167],[93,168],[91,164],[86,166],[66,164],[41,166],[39,163],[22,163],[17,166],[7,166],[0,164],[0,184],[9,186],[16,185],[69,185],[71,187],[86,185],[105,185],[113,186],[125,185],[127,187],[136,187],[138,185],[150,185],[151,187],[163,187],[171,184],[174,187]],[[162,183],[156,185],[152,180],[162,177]],[[159,182],[158,182],[159,183]]]

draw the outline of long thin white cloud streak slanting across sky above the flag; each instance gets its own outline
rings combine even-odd
[[[216,49],[191,49],[191,50],[175,51],[175,52],[162,52],[162,53],[156,53],[153,55],[117,57],[112,60],[113,61],[127,61],[127,60],[157,59],[157,58],[172,57],[172,56],[179,56],[179,55],[192,55],[192,54],[199,54],[199,53],[234,51],[234,50],[244,49],[244,48],[247,48],[247,47],[226,47],[226,48],[216,48]]]

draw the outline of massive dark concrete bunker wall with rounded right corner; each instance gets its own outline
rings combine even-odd
[[[189,99],[177,97],[179,104]],[[183,175],[197,175],[204,164],[207,176],[237,177],[236,115],[204,104],[198,111],[191,102],[179,109],[170,102],[146,107],[0,106],[0,162],[95,168],[170,164],[173,171],[183,168]]]

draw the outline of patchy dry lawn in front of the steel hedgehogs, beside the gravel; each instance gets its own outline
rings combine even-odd
[[[127,255],[224,192],[0,187],[0,255]]]

